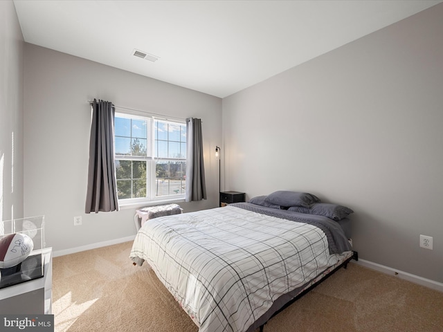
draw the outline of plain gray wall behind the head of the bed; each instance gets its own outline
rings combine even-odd
[[[440,4],[224,98],[222,187],[347,205],[362,259],[443,282],[442,36]]]

